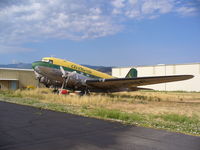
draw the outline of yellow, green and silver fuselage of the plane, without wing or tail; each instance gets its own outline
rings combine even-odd
[[[113,76],[106,73],[55,57],[44,57],[41,61],[33,62],[32,67],[40,78],[42,78],[43,82],[58,86],[60,86],[63,82],[60,67],[64,69],[66,74],[73,72],[75,75],[70,77],[68,87],[75,89],[83,88],[82,86],[84,86],[84,81],[87,79],[113,78]]]

